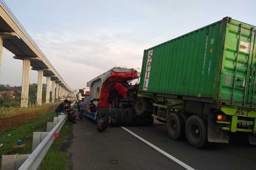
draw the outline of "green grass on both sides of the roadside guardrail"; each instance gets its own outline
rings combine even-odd
[[[51,110],[35,117],[33,120],[25,122],[17,128],[8,128],[4,131],[0,131],[0,144],[4,144],[0,147],[0,155],[31,153],[33,132],[46,131],[47,122],[53,122],[55,115],[54,110]],[[39,169],[69,169],[67,163],[68,153],[62,148],[65,146],[64,144],[68,142],[71,130],[72,124],[66,121],[59,133],[59,138],[54,140]],[[22,144],[25,144],[26,147],[22,149],[12,149],[14,145],[17,145],[19,139],[22,140]],[[0,161],[2,164],[2,156]]]

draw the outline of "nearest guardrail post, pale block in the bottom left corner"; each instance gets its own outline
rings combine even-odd
[[[16,170],[27,160],[28,156],[29,154],[2,155],[2,169]]]

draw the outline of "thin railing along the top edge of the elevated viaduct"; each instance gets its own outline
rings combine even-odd
[[[41,53],[41,55],[44,57],[44,59],[51,65],[52,69],[57,73],[57,71],[55,70],[55,68],[52,66],[52,64],[49,62],[48,58],[43,54],[43,52],[41,51],[41,49],[39,48],[39,46],[36,44],[36,42],[34,42],[34,40],[32,39],[32,37],[29,35],[29,33],[25,30],[25,28],[21,25],[21,23],[19,22],[19,20],[16,18],[16,16],[13,14],[13,12],[10,10],[10,8],[5,4],[5,2],[3,0],[0,0],[0,6],[2,6],[4,8],[4,10],[6,11],[6,13],[10,16],[11,19],[13,19],[13,21],[16,23],[16,25],[19,27],[19,29],[26,35],[26,37],[29,39],[29,41],[33,44],[34,47],[37,48],[37,50],[39,51],[39,53]],[[60,76],[60,75],[59,75]],[[61,77],[61,76],[60,76]],[[63,80],[64,81],[64,80]],[[65,83],[65,81],[64,81]],[[65,83],[66,84],[66,83]],[[70,88],[69,88],[70,89]]]

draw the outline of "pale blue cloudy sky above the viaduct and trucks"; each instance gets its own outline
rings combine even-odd
[[[73,90],[113,67],[140,71],[145,49],[226,16],[256,26],[255,0],[4,1]],[[3,49],[0,84],[21,86],[13,56]],[[30,83],[37,78],[31,70]]]

